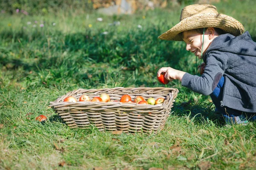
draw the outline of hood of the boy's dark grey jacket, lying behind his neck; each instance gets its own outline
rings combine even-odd
[[[212,43],[205,52],[205,55],[207,56],[207,53],[213,50],[231,52],[238,55],[256,56],[255,42],[252,41],[248,31],[237,37],[231,34],[219,35],[212,40]]]

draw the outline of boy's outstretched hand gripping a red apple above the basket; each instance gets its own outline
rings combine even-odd
[[[181,79],[183,78],[183,75],[186,73],[177,69],[173,69],[171,67],[162,67],[161,69],[158,70],[157,77],[159,77],[162,72],[166,73],[165,78],[169,81],[173,81],[177,79],[181,81]]]

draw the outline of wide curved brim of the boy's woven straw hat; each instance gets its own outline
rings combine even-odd
[[[241,35],[244,32],[244,26],[233,17],[225,14],[207,13],[193,15],[181,20],[158,38],[161,40],[183,41],[180,32],[207,27],[220,28],[234,36]]]

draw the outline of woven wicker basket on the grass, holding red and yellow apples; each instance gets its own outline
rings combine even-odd
[[[119,101],[122,95],[128,94],[132,100],[142,96],[145,100],[152,97],[165,98],[161,105],[121,103],[121,102],[63,102],[64,98],[73,96],[79,101],[81,95],[86,94],[92,99],[107,93],[111,100]],[[163,129],[168,118],[178,89],[164,87],[143,87],[112,89],[78,89],[68,92],[56,101],[50,102],[52,109],[70,128],[89,128],[96,126],[99,131],[117,131],[124,133],[148,132],[157,133]]]

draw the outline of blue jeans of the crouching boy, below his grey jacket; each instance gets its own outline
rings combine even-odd
[[[242,112],[240,110],[231,109],[229,107],[221,107],[221,101],[223,97],[223,89],[224,89],[225,78],[222,76],[218,85],[213,90],[210,97],[212,98],[212,102],[215,105],[215,111],[220,112],[227,124],[241,124],[247,122],[247,120],[256,120],[256,113],[247,113]]]

